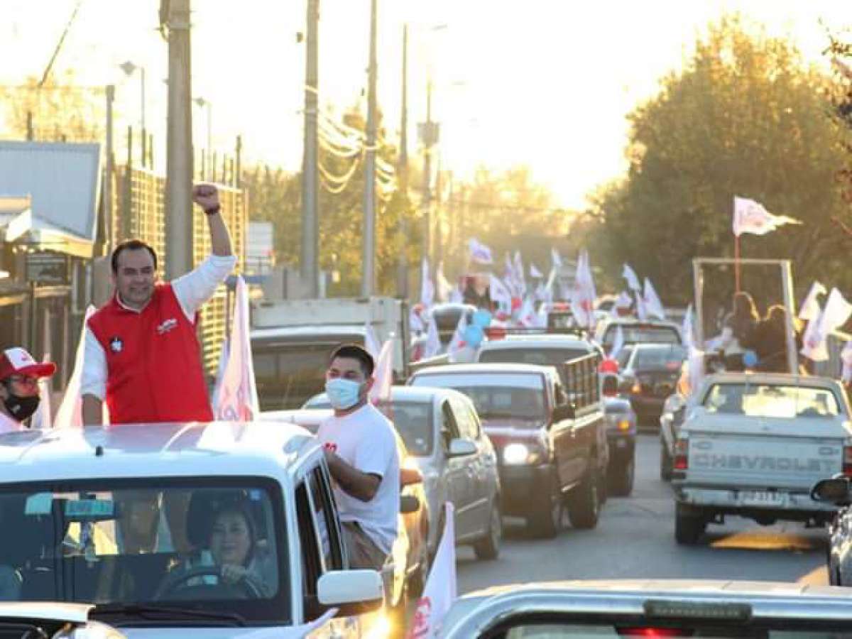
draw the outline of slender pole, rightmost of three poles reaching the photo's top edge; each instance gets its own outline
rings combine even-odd
[[[367,140],[364,164],[364,270],[361,296],[369,297],[376,283],[376,13],[377,0],[370,3],[370,67],[367,72]]]

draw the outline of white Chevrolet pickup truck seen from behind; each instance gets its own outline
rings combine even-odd
[[[675,538],[694,544],[725,515],[823,525],[816,481],[852,473],[843,387],[827,377],[723,373],[690,396],[672,459]]]

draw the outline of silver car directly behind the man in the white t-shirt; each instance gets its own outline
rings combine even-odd
[[[479,559],[496,559],[503,527],[497,453],[482,431],[471,401],[452,389],[394,386],[391,410],[408,454],[423,473],[429,512],[437,525],[429,527],[431,556],[444,528],[443,504],[455,508],[456,544],[470,544]],[[325,394],[305,408],[328,408]]]

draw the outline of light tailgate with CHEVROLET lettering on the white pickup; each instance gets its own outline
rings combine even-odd
[[[842,425],[780,421],[763,420],[740,429],[745,432],[735,426],[710,428],[709,423],[689,428],[684,483],[809,492],[816,481],[842,472]]]

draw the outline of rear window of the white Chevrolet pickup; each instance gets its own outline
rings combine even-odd
[[[780,384],[713,384],[705,394],[707,412],[748,417],[836,417],[840,404],[828,389]]]

